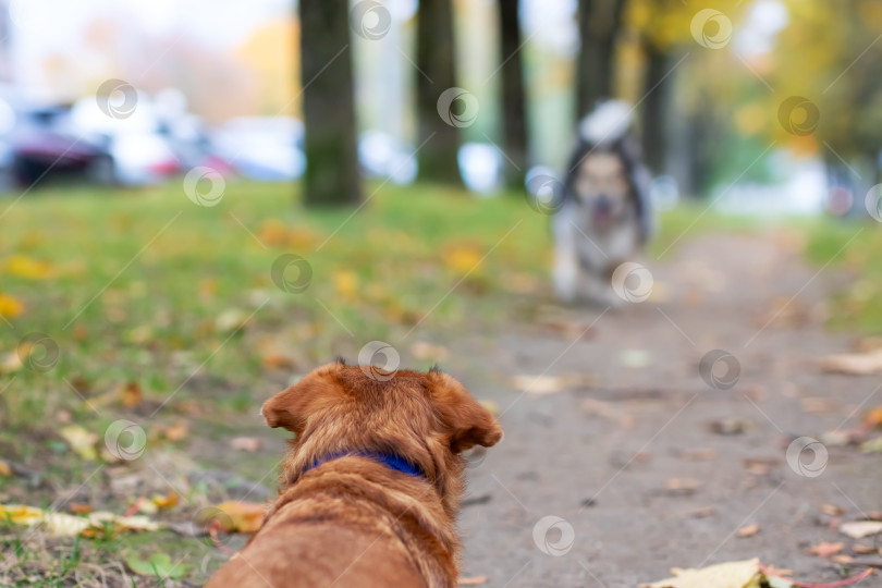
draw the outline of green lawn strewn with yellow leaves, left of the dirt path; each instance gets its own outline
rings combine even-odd
[[[291,377],[338,354],[354,362],[373,340],[394,345],[404,365],[428,367],[433,362],[417,359],[413,343],[492,333],[551,299],[550,219],[522,196],[477,199],[419,185],[367,193],[375,191],[358,211],[305,210],[293,186],[252,183],[230,183],[209,208],[187,199],[179,183],[46,188],[0,200],[0,295],[22,305],[9,326],[0,322],[0,460],[41,478],[33,489],[0,474],[0,503],[49,507],[59,498],[52,489],[78,487],[103,463],[73,453],[59,436],[62,421],[94,433],[100,449],[109,425],[127,418],[144,427],[150,460],[185,455],[193,467],[234,467],[259,479],[278,450],[243,457],[231,455],[228,442],[266,434],[256,407]],[[700,234],[751,228],[702,210],[664,213],[648,259],[669,247],[673,256]],[[311,269],[303,292],[273,282],[273,262],[285,254]],[[57,345],[46,370],[17,365],[28,333]],[[39,364],[40,353],[35,347],[30,359]],[[143,397],[127,404],[126,385]],[[170,440],[168,429],[182,420],[188,433]],[[86,500],[121,513],[134,497],[108,498],[108,479],[145,470],[156,478],[140,462],[105,464],[112,473],[89,479]],[[187,519],[209,500],[196,485],[182,499],[159,516]],[[97,577],[79,562],[110,569],[132,554],[193,551],[191,565],[210,555],[192,576],[204,580],[224,559],[168,531],[77,544],[23,537],[0,524],[2,552],[27,555],[46,586],[69,585],[75,573]],[[9,562],[0,556],[0,578],[21,577],[21,565],[2,575]]]

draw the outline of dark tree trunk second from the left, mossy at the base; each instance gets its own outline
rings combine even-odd
[[[417,124],[419,177],[462,184],[456,156],[460,128],[438,112],[438,98],[456,86],[452,0],[420,0],[417,17]],[[461,106],[461,105],[460,105]],[[452,110],[457,101],[450,105]]]

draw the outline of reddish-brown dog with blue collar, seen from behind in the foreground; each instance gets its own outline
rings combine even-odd
[[[209,587],[454,587],[465,458],[502,429],[431,370],[320,367],[262,408],[296,438],[279,499]]]

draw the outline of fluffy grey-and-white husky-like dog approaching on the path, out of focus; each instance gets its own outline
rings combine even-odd
[[[607,101],[579,123],[552,221],[554,290],[564,302],[621,305],[612,274],[649,238],[649,172],[630,112],[626,102]]]

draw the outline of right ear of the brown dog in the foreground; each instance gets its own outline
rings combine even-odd
[[[463,384],[437,370],[426,375],[426,382],[438,418],[450,434],[451,451],[460,453],[475,445],[489,448],[499,443],[502,427]]]

